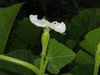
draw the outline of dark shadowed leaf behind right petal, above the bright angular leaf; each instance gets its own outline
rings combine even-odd
[[[68,29],[66,30],[66,35],[61,35],[53,30],[50,31],[50,37],[56,39],[58,42],[65,44],[67,40],[77,40],[81,36],[81,32],[77,28],[73,28],[70,26],[70,24],[66,23],[66,26]]]

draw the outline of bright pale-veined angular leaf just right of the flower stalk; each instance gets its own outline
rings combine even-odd
[[[47,57],[49,60],[47,70],[52,74],[58,74],[62,67],[73,61],[75,53],[55,39],[50,39]]]

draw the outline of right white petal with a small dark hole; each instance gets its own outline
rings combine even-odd
[[[50,28],[59,33],[64,33],[66,31],[66,25],[63,22],[59,23],[54,21],[51,23]]]

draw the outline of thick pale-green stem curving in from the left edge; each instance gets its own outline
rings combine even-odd
[[[9,56],[5,56],[5,55],[0,55],[0,59],[25,66],[25,67],[31,69],[32,71],[34,71],[37,75],[39,75],[39,69],[37,67],[35,67],[34,65],[28,63],[28,62],[25,62],[25,61],[22,61],[22,60],[19,60],[19,59],[15,59],[15,58],[12,58],[12,57],[9,57]]]

